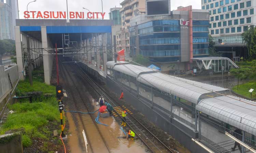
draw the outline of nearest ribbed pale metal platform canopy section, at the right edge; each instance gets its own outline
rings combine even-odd
[[[256,135],[256,103],[253,101],[234,96],[221,96],[203,99],[196,108],[209,116]]]

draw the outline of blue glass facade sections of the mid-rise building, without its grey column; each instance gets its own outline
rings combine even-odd
[[[193,20],[193,56],[207,56],[209,21]],[[136,54],[136,28],[130,27],[130,48]],[[138,25],[140,54],[152,62],[176,62],[181,57],[180,20],[153,20]],[[188,39],[188,37],[187,37]]]

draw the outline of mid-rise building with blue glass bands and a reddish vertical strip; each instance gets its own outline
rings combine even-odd
[[[181,69],[191,69],[191,58],[208,56],[209,13],[187,8],[179,7],[168,16],[133,17],[129,28],[131,56],[142,54],[163,71],[169,71],[174,62],[179,62]]]

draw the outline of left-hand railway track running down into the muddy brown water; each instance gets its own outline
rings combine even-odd
[[[72,97],[72,99],[73,99],[73,102],[74,102],[74,105],[75,105],[75,107],[76,107],[76,109],[77,109],[77,111],[87,111],[87,112],[89,112],[90,111],[90,109],[88,108],[88,106],[87,106],[87,103],[88,103],[88,101],[85,101],[85,99],[83,98],[83,96],[82,96],[82,94],[81,94],[81,92],[80,92],[80,90],[79,89],[77,89],[76,87],[74,88],[72,88],[72,86],[71,86],[71,84],[70,84],[70,82],[73,84],[73,85],[75,85],[75,82],[74,82],[74,80],[72,79],[72,77],[71,77],[71,74],[69,73],[69,72],[67,72],[67,70],[66,70],[66,68],[63,68],[63,64],[60,62],[60,69],[61,69],[61,75],[62,76],[65,76],[65,82],[64,82],[64,84],[70,89],[69,90],[69,92],[70,92],[70,94],[71,94],[71,97]],[[81,98],[81,100],[82,100],[82,106],[81,106],[81,103],[79,103],[79,102],[77,102],[77,96],[75,96],[75,93],[77,93],[78,95],[79,95],[79,97]],[[80,117],[80,120],[82,121],[82,126],[83,126],[83,128],[84,128],[84,130],[85,130],[85,134],[87,135],[88,134],[88,131],[86,130],[86,126],[85,126],[85,123],[83,122],[83,119],[82,119],[82,115],[81,114],[79,114],[79,117]],[[99,127],[98,127],[98,124],[95,122],[95,119],[94,119],[94,117],[93,117],[93,115],[92,114],[90,114],[90,117],[91,117],[91,119],[92,119],[92,121],[94,122],[94,124],[95,124],[95,126],[96,126],[96,128],[97,128],[97,131],[98,131],[98,133],[100,134],[100,136],[101,136],[101,138],[102,138],[102,140],[103,140],[103,142],[104,142],[104,145],[106,146],[106,148],[107,148],[107,150],[108,150],[108,152],[109,153],[111,153],[111,151],[110,151],[110,148],[108,147],[108,145],[107,145],[107,143],[106,143],[106,141],[105,141],[105,139],[104,139],[104,137],[102,136],[102,133],[100,132],[100,130],[99,130]],[[88,135],[87,135],[88,136]],[[93,146],[91,145],[91,142],[90,142],[90,139],[87,139],[87,141],[88,141],[88,145],[89,145],[89,147],[90,147],[90,150],[91,150],[91,152],[92,153],[95,153],[95,151],[94,151],[94,149],[93,149]],[[98,147],[98,146],[97,146]]]

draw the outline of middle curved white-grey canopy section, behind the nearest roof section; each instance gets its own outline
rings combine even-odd
[[[162,73],[141,74],[138,81],[147,85],[153,85],[159,90],[171,93],[195,104],[198,103],[199,98],[204,94],[227,90],[222,87],[168,76]]]

